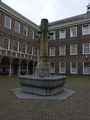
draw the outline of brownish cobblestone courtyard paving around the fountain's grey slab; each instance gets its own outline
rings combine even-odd
[[[68,77],[65,88],[76,92],[63,101],[17,99],[16,87],[17,77],[0,76],[0,120],[90,120],[90,77]]]

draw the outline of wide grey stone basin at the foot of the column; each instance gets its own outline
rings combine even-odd
[[[63,90],[66,76],[20,76],[19,80],[23,92],[50,96]]]

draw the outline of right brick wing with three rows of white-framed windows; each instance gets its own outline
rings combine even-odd
[[[87,12],[49,24],[51,72],[90,75],[90,5]]]

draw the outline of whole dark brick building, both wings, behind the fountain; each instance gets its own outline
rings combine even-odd
[[[49,23],[50,72],[90,75],[90,5],[87,12]],[[33,74],[38,25],[0,1],[0,74]]]

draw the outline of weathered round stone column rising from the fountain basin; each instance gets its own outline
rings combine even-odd
[[[50,73],[48,57],[48,20],[41,20],[39,77],[48,77]]]

